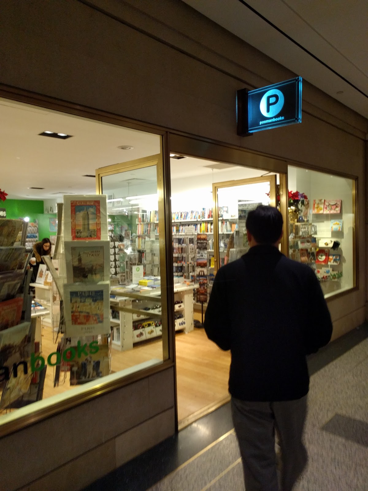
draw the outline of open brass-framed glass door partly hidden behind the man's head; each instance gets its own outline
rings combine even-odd
[[[215,183],[213,191],[214,269],[248,249],[245,220],[258,205],[276,206],[276,175]]]

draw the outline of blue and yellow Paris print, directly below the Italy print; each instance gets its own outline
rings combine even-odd
[[[110,283],[65,284],[64,313],[67,337],[110,332]]]

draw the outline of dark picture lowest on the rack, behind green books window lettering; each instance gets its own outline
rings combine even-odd
[[[77,346],[74,349],[77,352]],[[90,351],[88,356],[82,355],[70,362],[70,385],[92,382],[108,375],[108,371],[108,345],[100,344],[97,353]]]

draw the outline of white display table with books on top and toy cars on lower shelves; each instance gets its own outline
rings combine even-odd
[[[193,290],[198,287],[197,283],[174,285],[175,330],[193,330]],[[110,319],[112,345],[120,351],[131,350],[134,343],[162,334],[160,287],[137,288],[115,286],[110,290],[115,296],[110,300],[111,310],[119,308],[118,318]]]

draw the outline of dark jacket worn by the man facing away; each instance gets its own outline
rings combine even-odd
[[[315,273],[268,245],[251,247],[218,270],[204,327],[222,350],[231,350],[229,392],[243,401],[306,395],[306,355],[332,334]]]

